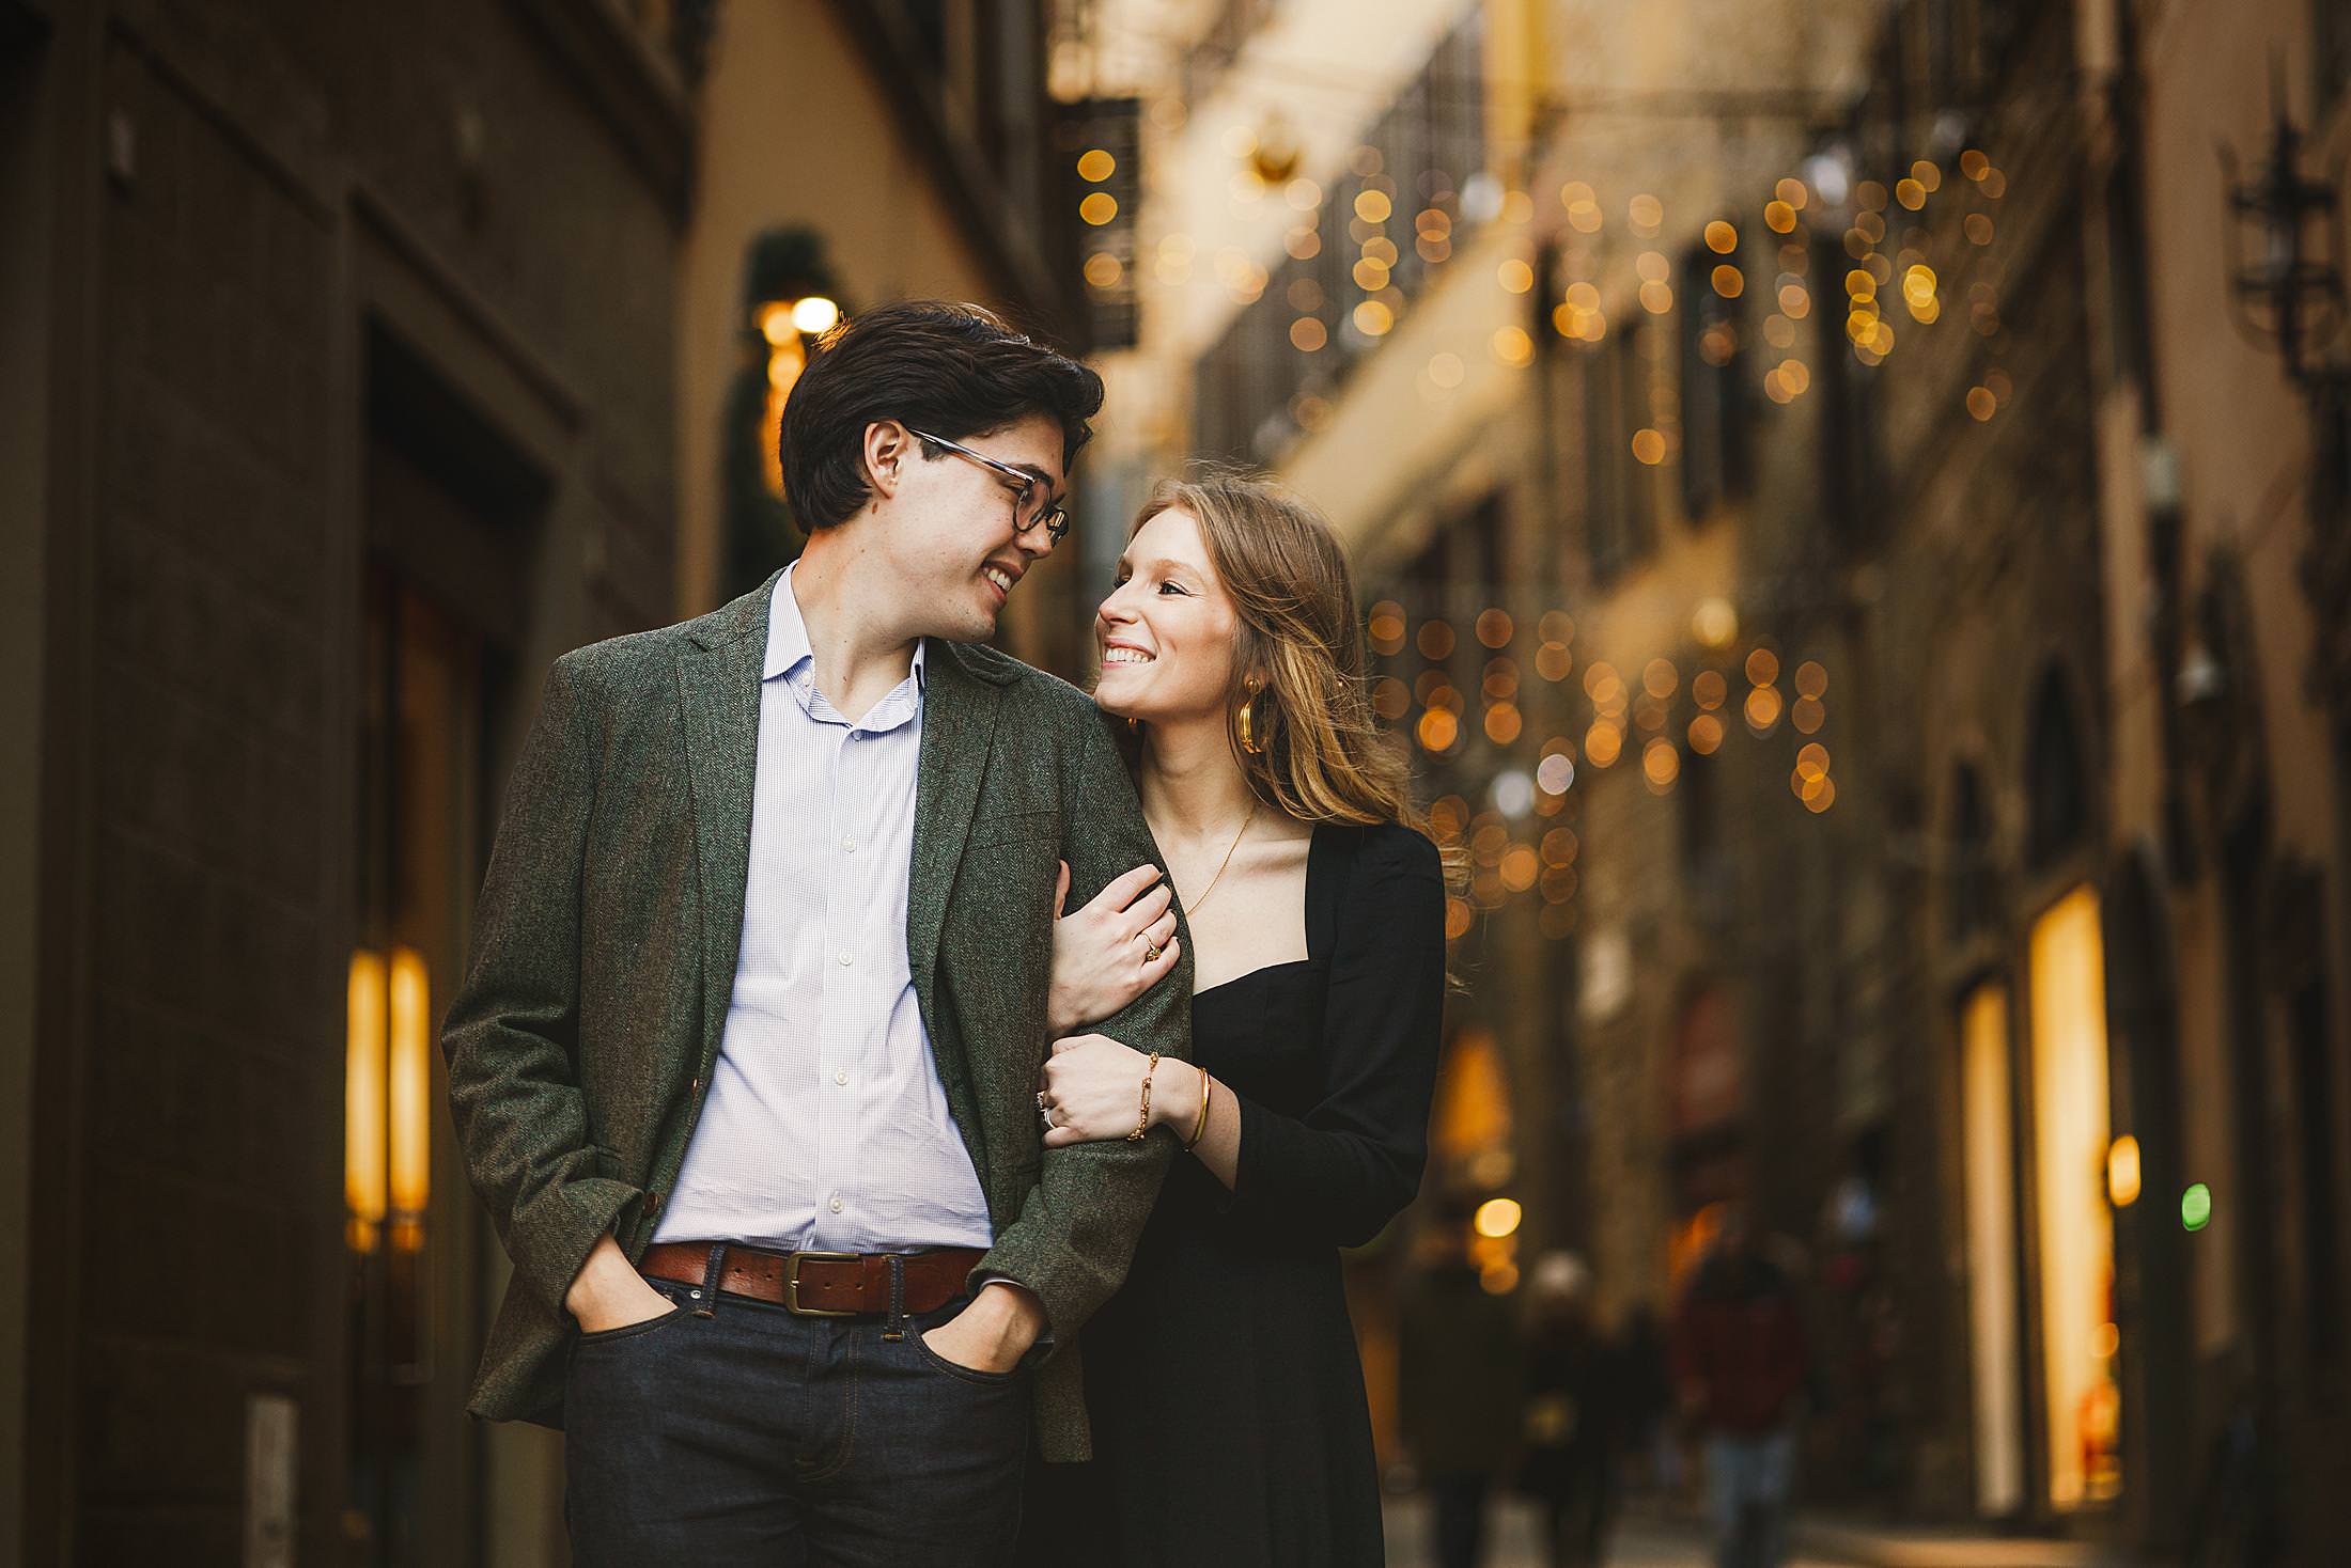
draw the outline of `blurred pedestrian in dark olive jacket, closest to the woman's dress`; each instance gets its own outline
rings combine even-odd
[[[1429,1493],[1436,1568],[1476,1568],[1526,1389],[1512,1305],[1469,1258],[1472,1208],[1446,1204],[1425,1234],[1396,1331],[1396,1420]]]

